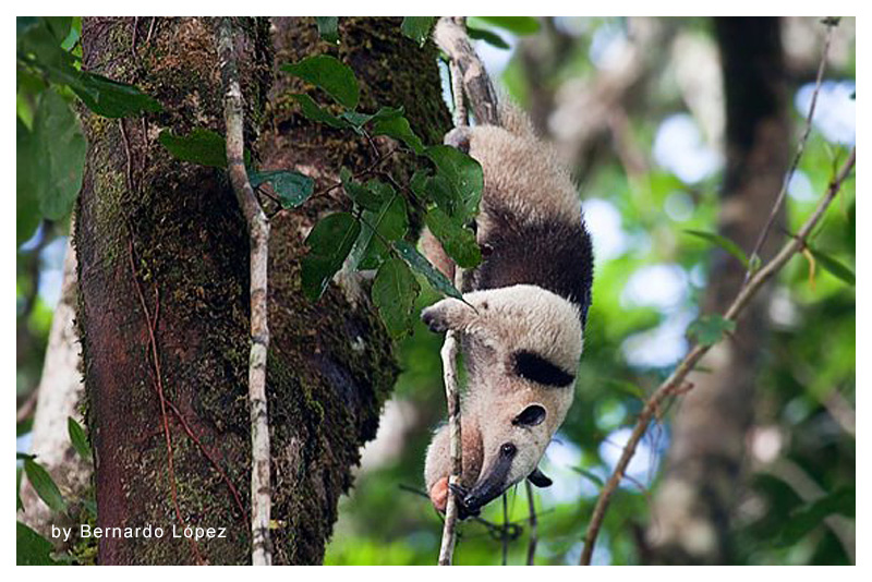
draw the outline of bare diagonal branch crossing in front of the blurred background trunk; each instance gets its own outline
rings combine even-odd
[[[857,147],[855,146],[851,149],[848,159],[845,160],[845,163],[841,166],[841,169],[829,182],[826,193],[818,203],[818,207],[802,225],[802,228],[799,229],[797,235],[788,240],[787,244],[785,244],[780,252],[778,252],[778,254],[775,255],[775,257],[765,266],[754,272],[753,277],[751,277],[748,283],[739,290],[736,299],[732,300],[729,308],[727,308],[726,313],[724,314],[725,319],[736,320],[736,318],[741,314],[742,310],[746,307],[746,305],[748,305],[760,288],[763,287],[763,284],[776,272],[778,272],[782,267],[787,264],[790,257],[803,248],[807,237],[823,217],[826,208],[833,202],[833,198],[835,198],[836,194],[838,194],[841,183],[848,178],[853,169],[856,159]],[[594,507],[591,522],[588,525],[588,532],[584,535],[584,550],[581,554],[580,560],[582,566],[588,566],[591,563],[593,547],[596,543],[596,536],[600,533],[600,529],[603,525],[603,519],[605,518],[606,509],[608,509],[609,499],[623,478],[627,466],[630,464],[630,460],[635,453],[635,447],[644,436],[645,431],[647,429],[649,424],[651,424],[651,421],[658,410],[661,402],[675,395],[676,390],[682,389],[685,386],[685,377],[693,369],[693,367],[702,359],[702,356],[705,355],[710,348],[711,345],[695,345],[690,353],[685,356],[681,363],[678,364],[676,369],[666,379],[666,381],[657,387],[651,398],[649,398],[645,402],[645,405],[642,408],[642,412],[639,414],[639,420],[633,427],[632,434],[630,435],[627,445],[623,447],[623,452],[621,453],[620,459],[618,460],[618,463],[611,473],[611,476],[608,478],[608,482],[606,482],[603,490],[600,493],[600,498],[596,500],[596,506]]]

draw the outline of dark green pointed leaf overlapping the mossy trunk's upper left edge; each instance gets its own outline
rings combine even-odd
[[[80,73],[77,81],[70,83],[70,88],[88,109],[106,118],[125,118],[162,110],[158,101],[135,86],[95,73]]]

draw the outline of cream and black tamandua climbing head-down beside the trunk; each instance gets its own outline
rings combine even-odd
[[[468,149],[484,171],[476,217],[482,264],[463,274],[463,299],[422,312],[436,332],[459,334],[469,385],[461,404],[461,518],[476,514],[537,470],[574,392],[583,329],[591,304],[593,251],[569,172],[537,140],[518,109],[504,107],[504,126],[453,130],[446,143]],[[450,264],[424,233],[437,266]],[[472,305],[472,307],[470,306]],[[450,473],[448,426],[427,449],[424,477],[444,511]]]

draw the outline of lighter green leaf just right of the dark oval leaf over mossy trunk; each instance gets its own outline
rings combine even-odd
[[[351,253],[351,266],[356,270],[378,267],[389,254],[385,241],[401,239],[409,230],[409,216],[402,196],[378,180],[370,180],[366,189],[384,202],[377,210],[363,213],[361,234]]]

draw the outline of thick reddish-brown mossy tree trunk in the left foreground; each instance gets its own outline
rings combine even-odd
[[[87,167],[75,244],[87,420],[102,528],[162,528],[161,538],[104,537],[101,563],[246,563],[250,424],[249,239],[221,170],[181,162],[159,142],[195,128],[223,133],[210,19],[85,19],[84,68],[133,83],[164,111],[123,121],[86,116]],[[241,21],[246,143],[262,169],[296,169],[331,185],[342,165],[375,154],[362,138],[308,122],[279,65],[329,52],[361,83],[363,110],[402,106],[440,141],[449,116],[436,56],[397,19],[343,19],[340,46],[314,19]],[[387,148],[378,143],[377,147]],[[409,160],[391,162],[409,171]],[[300,289],[303,240],[346,206],[340,193],[278,215],[269,250],[267,390],[274,562],[316,563],[373,438],[397,366],[361,283],[338,277],[316,304]],[[169,438],[168,438],[169,435]],[[173,538],[172,529],[226,528],[227,537]]]

